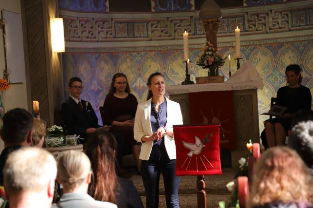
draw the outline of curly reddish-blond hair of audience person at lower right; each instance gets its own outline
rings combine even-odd
[[[250,208],[312,208],[312,177],[299,155],[287,147],[265,151],[254,167]]]

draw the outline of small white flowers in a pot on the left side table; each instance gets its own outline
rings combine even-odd
[[[60,147],[64,141],[63,129],[53,125],[48,127],[45,132],[45,147]]]

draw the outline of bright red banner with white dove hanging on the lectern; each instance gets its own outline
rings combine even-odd
[[[176,174],[222,174],[220,133],[220,126],[174,126]]]

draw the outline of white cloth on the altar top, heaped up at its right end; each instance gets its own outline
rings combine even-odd
[[[168,95],[184,93],[198,93],[204,91],[228,91],[263,89],[264,84],[256,68],[250,62],[242,65],[233,76],[223,83],[169,85],[166,87]]]

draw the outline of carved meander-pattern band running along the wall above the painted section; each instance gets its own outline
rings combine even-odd
[[[125,19],[71,17],[67,12],[61,14],[66,41],[172,40],[181,39],[184,31],[189,33],[190,38],[205,37],[202,21],[196,15]],[[220,20],[218,37],[233,36],[237,25],[242,35],[313,29],[313,5],[224,15]]]

